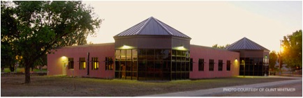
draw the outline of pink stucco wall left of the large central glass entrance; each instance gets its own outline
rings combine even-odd
[[[85,70],[79,70],[79,59],[84,57],[87,61],[87,52],[90,54],[89,60],[91,60],[92,57],[98,57],[99,60],[98,70],[91,70],[91,63],[89,63],[89,75],[87,75],[87,67]],[[66,56],[66,59],[62,59],[62,56]],[[103,62],[105,57],[114,58],[114,43],[63,47],[61,49],[57,49],[54,54],[47,55],[48,75],[89,76],[113,79],[114,69],[105,70],[105,62]],[[73,58],[73,70],[68,70],[68,67],[64,66],[64,63],[68,61],[67,58]]]

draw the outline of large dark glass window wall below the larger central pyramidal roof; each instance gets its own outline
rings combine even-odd
[[[189,76],[184,76],[185,72],[192,71],[193,68],[189,51],[128,49],[116,50],[116,52],[115,69],[116,75],[119,75],[116,77],[120,77],[120,79],[167,80],[170,79],[170,73],[172,72],[175,73],[175,78],[186,79]],[[108,65],[108,63],[105,63],[105,65]]]

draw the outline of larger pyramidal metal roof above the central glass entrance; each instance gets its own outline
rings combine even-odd
[[[180,38],[189,38],[189,36],[177,31],[175,28],[168,26],[154,17],[149,17],[139,24],[135,24],[131,28],[115,35],[114,37],[130,36],[130,35],[172,35]]]

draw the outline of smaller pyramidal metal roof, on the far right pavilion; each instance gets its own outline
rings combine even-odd
[[[266,49],[265,47],[262,47],[261,45],[257,44],[256,42],[253,42],[245,37],[242,38],[241,40],[238,40],[237,42],[230,44],[230,46],[226,47],[226,49],[228,49],[228,50],[249,49],[249,50],[269,51],[269,49]]]

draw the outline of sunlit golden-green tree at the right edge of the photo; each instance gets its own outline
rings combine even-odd
[[[283,63],[292,68],[302,67],[302,30],[284,36],[281,46]]]

